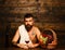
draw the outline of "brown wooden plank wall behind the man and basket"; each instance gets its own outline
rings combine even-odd
[[[65,0],[0,0],[0,47],[11,42],[26,13],[39,28],[54,29],[58,46],[65,46]]]

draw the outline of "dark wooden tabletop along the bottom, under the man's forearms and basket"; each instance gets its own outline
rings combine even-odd
[[[9,47],[9,48],[0,48],[0,50],[48,50],[48,49],[43,49],[43,48],[21,49],[21,48],[16,48],[16,47]],[[54,50],[65,50],[65,48],[56,48]]]

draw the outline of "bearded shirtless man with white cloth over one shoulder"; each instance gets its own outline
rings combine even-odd
[[[14,37],[13,37],[13,45],[28,49],[28,48],[35,48],[39,46],[40,30],[38,27],[34,26],[34,17],[31,14],[26,14],[24,16],[24,24],[18,27],[16,30]],[[17,40],[20,39],[20,42],[17,43]]]

